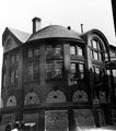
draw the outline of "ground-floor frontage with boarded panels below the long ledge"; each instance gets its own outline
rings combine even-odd
[[[10,111],[1,115],[0,131],[77,131],[114,124],[114,110],[103,108],[43,108]]]

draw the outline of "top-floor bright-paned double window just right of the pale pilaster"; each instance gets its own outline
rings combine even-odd
[[[78,45],[71,45],[70,55],[83,56],[83,48]]]

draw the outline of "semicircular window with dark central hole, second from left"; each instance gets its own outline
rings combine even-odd
[[[24,105],[39,104],[39,97],[35,92],[27,93],[24,99]]]

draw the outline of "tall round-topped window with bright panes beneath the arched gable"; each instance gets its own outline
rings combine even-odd
[[[94,60],[102,61],[102,48],[101,43],[97,39],[92,39],[91,41],[91,57]]]

